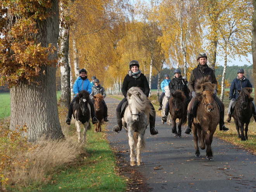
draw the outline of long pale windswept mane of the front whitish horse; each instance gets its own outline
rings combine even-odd
[[[126,98],[128,102],[130,102],[130,98],[132,99],[139,112],[144,111],[148,117],[149,115],[154,115],[154,111],[150,105],[150,100],[147,99],[147,96],[139,87],[131,87],[127,92]]]

